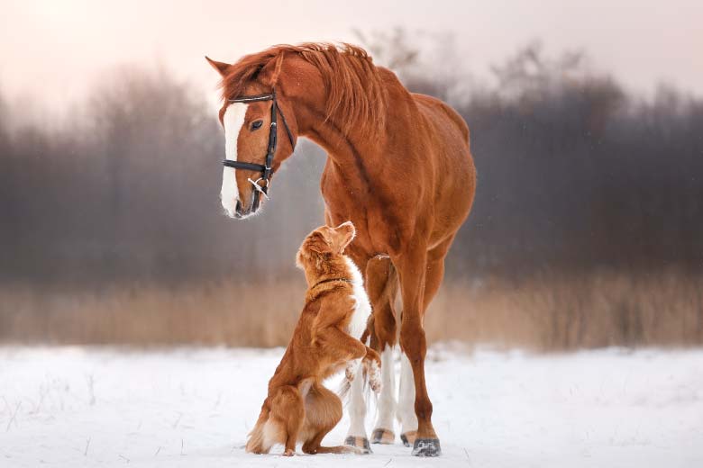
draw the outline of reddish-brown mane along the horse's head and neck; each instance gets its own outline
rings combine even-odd
[[[343,133],[347,134],[352,127],[362,131],[383,127],[387,93],[379,68],[366,50],[348,43],[283,44],[244,56],[228,69],[222,80],[223,99],[242,95],[245,87],[257,81],[260,71],[271,62],[275,65],[273,73],[261,82],[275,86],[283,60],[293,54],[313,65],[322,75],[328,93],[325,118],[334,117]]]

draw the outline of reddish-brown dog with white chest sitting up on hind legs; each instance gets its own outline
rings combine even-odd
[[[353,379],[360,361],[371,388],[380,390],[380,357],[359,338],[370,315],[361,274],[343,255],[354,238],[351,222],[311,232],[297,252],[297,266],[306,273],[306,305],[288,349],[269,381],[269,395],[247,441],[247,452],[267,454],[286,446],[293,455],[297,442],[306,454],[354,452],[349,446],[320,446],[342,419],[342,401],[323,386],[325,378],[346,368]]]

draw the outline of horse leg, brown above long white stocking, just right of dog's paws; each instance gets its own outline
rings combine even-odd
[[[393,348],[397,327],[395,300],[397,274],[389,257],[374,257],[366,266],[367,289],[373,308],[372,344],[381,356],[381,391],[379,416],[371,433],[371,444],[393,444],[396,439],[393,422],[396,416],[396,371]]]

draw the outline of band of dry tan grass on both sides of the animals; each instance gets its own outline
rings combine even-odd
[[[500,347],[703,344],[703,278],[586,275],[445,282],[428,338]],[[0,340],[284,346],[303,304],[302,278],[276,284],[141,285],[96,292],[0,290]]]

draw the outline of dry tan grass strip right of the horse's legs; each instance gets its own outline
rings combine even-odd
[[[703,277],[542,277],[444,284],[425,328],[433,339],[563,350],[703,344]]]

